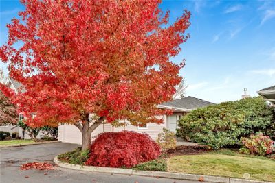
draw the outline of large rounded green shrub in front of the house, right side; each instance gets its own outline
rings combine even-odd
[[[273,110],[261,97],[199,108],[179,120],[177,136],[212,149],[241,145],[241,137],[272,128]]]

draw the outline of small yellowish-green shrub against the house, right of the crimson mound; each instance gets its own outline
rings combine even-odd
[[[167,151],[168,149],[175,149],[177,146],[177,139],[174,132],[164,127],[164,132],[158,134],[157,144],[162,147],[162,151]]]

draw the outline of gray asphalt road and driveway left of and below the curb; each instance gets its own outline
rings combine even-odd
[[[28,145],[22,147],[0,148],[0,182],[111,182],[111,183],[194,183],[197,181],[172,180],[165,178],[149,178],[135,175],[119,175],[113,173],[93,173],[85,171],[74,171],[56,167],[50,171],[28,170],[21,171],[21,164],[26,162],[52,162],[54,156],[75,149],[78,145],[69,143],[48,143],[41,145]]]

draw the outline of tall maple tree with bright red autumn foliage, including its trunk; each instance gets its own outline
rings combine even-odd
[[[190,12],[168,26],[169,12],[159,9],[160,1],[22,3],[25,11],[7,25],[0,58],[26,90],[11,96],[25,123],[74,124],[83,134],[83,149],[103,121],[162,123],[156,115],[164,111],[155,105],[169,101],[181,81],[184,64],[169,58],[188,38]]]

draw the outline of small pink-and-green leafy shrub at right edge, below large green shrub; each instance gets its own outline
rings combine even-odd
[[[254,154],[264,156],[272,154],[274,149],[274,141],[269,136],[264,136],[262,133],[251,135],[250,138],[241,138],[243,147],[239,151],[243,154]]]

